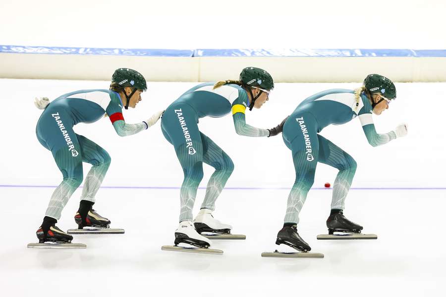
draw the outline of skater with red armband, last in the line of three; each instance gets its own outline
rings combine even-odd
[[[85,136],[76,134],[73,126],[78,123],[93,123],[108,116],[119,136],[146,130],[158,121],[162,111],[137,124],[126,123],[122,115],[122,107],[135,108],[141,101],[141,93],[146,90],[146,80],[139,72],[119,68],[112,75],[109,90],[75,91],[51,102],[48,98],[36,99],[35,105],[39,109],[45,109],[37,122],[37,139],[51,151],[63,176],[37,231],[40,243],[71,242],[72,236],[56,227],[56,223],[68,199],[83,181],[82,162],[90,163],[92,167],[85,177],[75,222],[79,228],[109,227],[110,220],[99,215],[92,206],[110,166],[111,157],[104,148]]]

